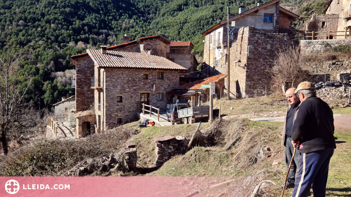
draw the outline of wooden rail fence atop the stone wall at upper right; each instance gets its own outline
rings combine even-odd
[[[332,33],[332,35],[331,35]],[[336,34],[334,34],[336,33]],[[337,33],[345,33],[342,35],[337,35]],[[316,35],[317,34],[317,35]],[[319,35],[319,34],[325,34],[325,35]],[[305,32],[305,33],[296,33],[292,36],[293,39],[298,39],[298,40],[306,40],[306,38],[311,38],[312,40],[316,40],[316,38],[319,37],[325,37],[325,39],[329,40],[331,36],[334,37],[344,37],[345,39],[351,38],[351,31],[345,30],[345,31],[328,31],[328,32]]]

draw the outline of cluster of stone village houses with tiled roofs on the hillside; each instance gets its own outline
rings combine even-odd
[[[279,0],[259,2],[250,10],[241,6],[239,14],[229,18],[229,25],[222,20],[204,27],[204,62],[200,71],[191,42],[171,42],[160,35],[134,41],[124,35],[120,45],[101,46],[100,50],[88,49],[86,53],[73,55],[75,96],[56,103],[55,116],[64,116],[70,132],[75,131],[72,137],[77,138],[85,133],[103,132],[111,123],[141,119],[143,104],[151,105],[151,111],[158,110],[167,119],[167,104],[177,99],[197,106],[207,103],[208,89],[200,86],[210,82],[216,83],[218,99],[228,97],[228,90],[231,99],[271,95],[269,70],[279,52],[299,47],[303,53],[316,53],[326,50],[327,45],[351,43],[349,18],[326,21],[331,13],[347,15],[343,10],[348,4],[340,7],[330,2],[325,15],[313,15],[307,30],[297,31],[290,21],[299,16],[279,3]],[[312,23],[324,29],[311,29]],[[316,33],[310,36],[310,31]],[[351,79],[347,72],[341,75],[343,80]],[[309,75],[311,82],[329,80],[330,74]]]

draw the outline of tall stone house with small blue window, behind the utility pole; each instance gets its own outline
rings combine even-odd
[[[230,30],[230,97],[262,96],[270,91],[268,69],[273,66],[276,52],[291,44],[290,21],[298,16],[279,6],[280,0],[258,3],[229,18]],[[234,26],[235,25],[235,26]],[[284,33],[284,34],[283,34]],[[222,20],[202,33],[205,35],[202,70],[208,75],[227,74],[227,20]],[[240,61],[239,61],[240,60]]]

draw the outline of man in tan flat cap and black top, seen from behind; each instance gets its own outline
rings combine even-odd
[[[292,145],[300,151],[293,197],[307,196],[311,184],[313,196],[325,196],[329,162],[336,148],[333,111],[316,97],[308,81],[301,82],[295,93],[301,104],[291,134]]]

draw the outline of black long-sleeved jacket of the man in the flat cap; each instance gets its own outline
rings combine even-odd
[[[297,112],[291,139],[300,141],[300,153],[336,148],[333,111],[317,97],[303,101]]]

